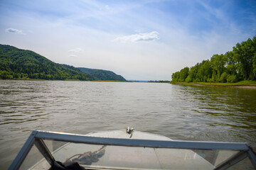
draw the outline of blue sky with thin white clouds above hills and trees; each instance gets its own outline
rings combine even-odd
[[[0,44],[125,79],[171,80],[255,35],[255,0],[0,0]]]

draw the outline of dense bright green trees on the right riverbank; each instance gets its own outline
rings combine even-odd
[[[172,82],[235,83],[256,78],[256,35],[237,43],[233,51],[213,55],[195,66],[185,67],[171,76]]]

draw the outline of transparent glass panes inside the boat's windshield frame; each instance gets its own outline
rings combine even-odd
[[[235,150],[124,147],[54,140],[43,142],[56,162],[78,162],[85,169],[215,169],[239,154]],[[50,164],[33,146],[20,169],[50,169]],[[232,166],[232,169],[254,167],[247,158]]]

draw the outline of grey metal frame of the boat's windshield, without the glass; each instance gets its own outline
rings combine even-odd
[[[23,160],[26,158],[28,152],[33,145],[36,145],[38,150],[43,154],[43,157],[53,164],[54,157],[49,152],[43,140],[56,140],[62,142],[85,143],[91,145],[115,145],[127,147],[154,147],[154,148],[173,148],[173,149],[231,149],[239,151],[233,157],[228,159],[223,164],[220,164],[215,169],[227,169],[233,164],[240,162],[245,157],[249,157],[253,166],[256,169],[256,155],[250,147],[250,143],[242,142],[195,142],[195,141],[181,141],[181,140],[134,140],[134,139],[119,139],[107,137],[91,137],[87,135],[76,135],[63,132],[47,132],[40,130],[33,130],[28,140],[25,142],[20,152],[14,159],[14,162],[9,167],[10,170],[18,169]]]

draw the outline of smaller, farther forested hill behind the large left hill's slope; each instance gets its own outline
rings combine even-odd
[[[96,79],[99,80],[112,80],[112,81],[126,81],[124,77],[115,74],[114,72],[110,72],[103,69],[88,69],[83,67],[78,67],[80,71],[85,72],[87,74],[92,75]]]

